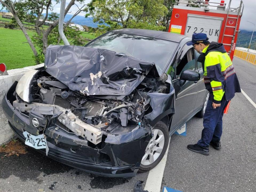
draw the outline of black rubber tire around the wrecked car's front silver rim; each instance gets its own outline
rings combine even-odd
[[[162,121],[159,121],[153,128],[153,130],[155,129],[158,129],[160,131],[162,131],[163,133],[163,136],[164,136],[164,145],[163,145],[163,149],[159,155],[159,157],[153,162],[151,163],[150,165],[140,165],[139,166],[139,170],[138,172],[139,173],[142,173],[142,172],[146,172],[146,171],[149,171],[150,169],[153,169],[155,166],[157,166],[157,164],[162,160],[163,156],[165,155],[165,152],[166,152],[166,149],[167,149],[167,146],[168,146],[168,142],[169,142],[169,130],[168,130],[168,127],[165,123],[163,123]]]

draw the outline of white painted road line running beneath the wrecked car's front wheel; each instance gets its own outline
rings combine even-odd
[[[165,171],[165,164],[167,160],[169,145],[170,139],[165,155],[163,156],[162,160],[158,163],[157,166],[155,166],[153,169],[149,171],[149,175],[147,176],[147,181],[144,190],[148,190],[150,192],[159,192],[161,190],[163,172]]]

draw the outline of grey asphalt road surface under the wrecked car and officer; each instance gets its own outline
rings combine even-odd
[[[241,88],[256,103],[256,66],[236,57],[233,63]],[[186,137],[171,137],[162,188],[183,192],[256,191],[255,117],[255,107],[242,93],[237,93],[223,117],[222,149],[210,147],[209,156],[187,150],[186,146],[196,143],[203,129],[202,119],[192,118],[187,123]],[[98,177],[55,162],[30,148],[27,151],[0,159],[0,192],[131,192],[136,181],[146,182],[148,176],[143,173],[126,179]],[[53,190],[49,189],[51,184],[55,185]]]

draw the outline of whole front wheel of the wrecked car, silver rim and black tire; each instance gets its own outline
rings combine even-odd
[[[154,136],[150,139],[142,157],[139,172],[146,172],[153,169],[163,158],[168,142],[168,127],[162,121],[159,121],[153,128]]]

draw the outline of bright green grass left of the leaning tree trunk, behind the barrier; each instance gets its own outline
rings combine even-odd
[[[27,31],[31,37],[34,32]],[[0,63],[5,63],[7,70],[35,65],[33,52],[21,30],[0,27]]]

